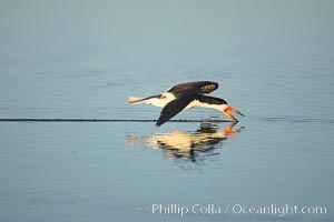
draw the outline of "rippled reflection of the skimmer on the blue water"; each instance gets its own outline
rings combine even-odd
[[[189,160],[198,162],[217,155],[223,141],[240,132],[244,128],[234,129],[236,122],[219,129],[214,123],[202,123],[196,131],[173,131],[148,137],[127,135],[131,145],[144,145],[161,149],[166,159]]]

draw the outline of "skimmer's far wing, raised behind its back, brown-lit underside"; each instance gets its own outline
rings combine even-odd
[[[176,97],[179,94],[183,94],[188,91],[198,90],[198,93],[210,93],[212,91],[216,90],[218,88],[217,82],[212,81],[196,81],[196,82],[186,82],[176,84],[173,88],[170,88],[167,92],[173,92]]]

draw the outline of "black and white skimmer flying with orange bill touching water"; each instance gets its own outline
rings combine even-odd
[[[175,117],[181,110],[188,110],[195,107],[212,108],[223,111],[224,114],[235,122],[237,119],[230,114],[237,113],[245,117],[238,110],[229,107],[227,102],[220,98],[208,97],[208,94],[218,88],[217,82],[212,81],[196,81],[177,84],[168,89],[161,94],[156,94],[147,98],[129,97],[129,104],[151,104],[161,107],[160,117],[156,122],[160,127],[166,121]]]

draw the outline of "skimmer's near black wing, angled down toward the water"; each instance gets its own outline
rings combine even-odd
[[[166,104],[166,107],[161,110],[160,117],[156,122],[157,127],[160,127],[170,118],[175,117],[183,109],[185,109],[193,100],[195,100],[199,95],[198,90],[193,90],[187,93],[184,93],[183,97],[176,98]]]

